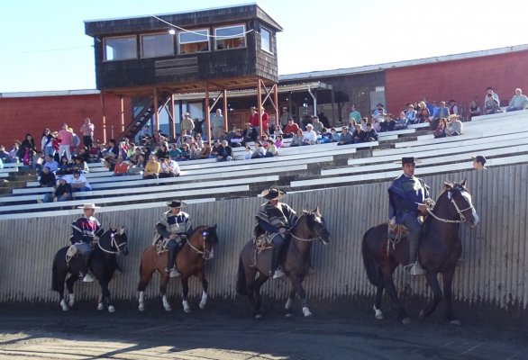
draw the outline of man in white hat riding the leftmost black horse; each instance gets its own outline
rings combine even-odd
[[[83,209],[84,214],[71,224],[72,235],[69,239],[83,258],[84,267],[81,276],[84,283],[94,281],[94,277],[89,274],[90,255],[92,255],[93,245],[105,232],[101,223],[94,217],[96,209],[99,208],[94,203],[85,203],[77,207],[77,209]]]

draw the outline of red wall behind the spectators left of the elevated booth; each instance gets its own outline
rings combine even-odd
[[[37,93],[38,94],[38,93]],[[40,141],[42,130],[60,130],[63,122],[68,123],[76,133],[86,118],[96,125],[95,139],[104,139],[103,109],[100,94],[0,97],[0,145],[11,149],[14,140],[23,140],[32,134]],[[125,125],[131,120],[130,99],[124,100]],[[121,99],[113,94],[105,95],[106,139],[122,132]]]

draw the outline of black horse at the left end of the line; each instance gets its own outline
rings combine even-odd
[[[68,247],[59,249],[53,259],[52,288],[59,293],[60,307],[63,311],[68,311],[75,302],[73,284],[79,278],[79,272],[83,268],[83,259],[73,257],[66,261]],[[97,305],[97,310],[108,309],[114,312],[115,308],[110,301],[110,291],[108,283],[112,280],[115,268],[117,267],[116,256],[118,254],[128,255],[127,237],[124,229],[109,229],[99,238],[96,248],[90,257],[90,270],[96,276],[101,286],[101,296]],[[69,274],[68,280],[66,279]],[[68,287],[68,301],[64,299],[64,282]]]

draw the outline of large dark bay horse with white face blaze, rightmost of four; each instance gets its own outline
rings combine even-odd
[[[451,283],[455,266],[462,252],[459,237],[460,223],[473,228],[478,224],[478,215],[471,202],[471,194],[466,187],[466,180],[460,184],[444,183],[445,190],[440,194],[432,211],[423,225],[418,256],[423,269],[426,270],[427,284],[431,287],[433,298],[427,304],[420,317],[432,314],[442,300],[442,290],[437,275],[442,274],[443,299],[445,316],[453,324],[460,324],[451,304]],[[405,239],[393,246],[387,240],[387,223],[369,229],[363,236],[363,264],[367,270],[369,282],[378,290],[374,311],[376,319],[383,319],[381,298],[387,289],[392,301],[396,304],[400,319],[404,324],[410,322],[409,315],[400,302],[392,275],[398,264],[407,264],[409,244]]]

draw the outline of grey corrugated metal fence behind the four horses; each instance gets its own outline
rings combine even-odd
[[[419,175],[419,170],[417,170]],[[442,189],[442,181],[460,181],[467,177],[469,190],[481,222],[475,229],[462,227],[464,266],[457,270],[454,296],[459,301],[479,302],[508,309],[526,309],[528,303],[528,233],[527,185],[528,166],[507,166],[487,171],[425,177],[431,185],[432,197]],[[322,179],[323,181],[323,179]],[[286,201],[296,211],[312,210],[319,205],[332,233],[332,243],[313,247],[316,275],[306,279],[311,299],[333,299],[373,295],[363,270],[360,244],[363,233],[386,220],[387,183],[344,186],[340,188],[290,193]],[[208,263],[210,296],[232,300],[238,256],[250,238],[253,213],[262,199],[238,199],[189,205],[195,225],[218,224],[220,245]],[[130,255],[123,260],[125,274],[111,284],[117,300],[135,300],[140,256],[150,245],[154,224],[167,208],[138,208],[132,211],[100,212],[97,217],[105,225],[125,226],[129,235]],[[0,302],[50,302],[57,294],[50,290],[51,261],[55,252],[68,243],[69,224],[73,216],[43,219],[1,220],[0,234]],[[155,275],[147,292],[158,294]],[[98,286],[77,284],[77,298],[95,298]],[[413,279],[403,270],[396,270],[396,286],[403,293],[426,295],[423,279]],[[264,293],[284,298],[287,282],[269,282]],[[191,293],[200,286],[191,283]],[[180,293],[177,281],[169,284],[169,294]]]

